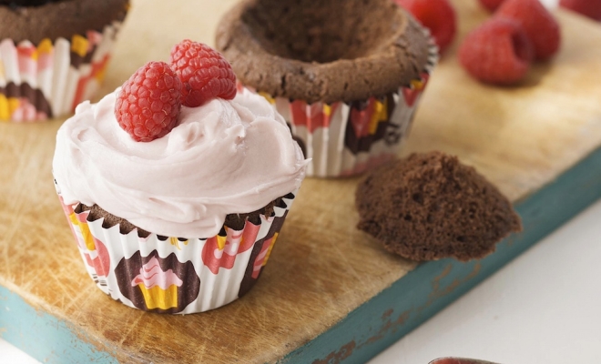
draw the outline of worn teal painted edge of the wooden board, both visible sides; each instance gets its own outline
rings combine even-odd
[[[345,319],[287,355],[286,363],[362,363],[418,327],[536,241],[601,197],[601,148],[534,195],[516,204],[525,230],[482,260],[422,264],[353,310]],[[0,286],[0,337],[47,363],[117,363],[83,330],[32,308]],[[117,348],[116,348],[117,349]]]

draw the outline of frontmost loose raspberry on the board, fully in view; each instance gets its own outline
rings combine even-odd
[[[520,0],[521,1],[521,0]],[[477,79],[510,85],[522,79],[534,51],[519,23],[491,18],[467,35],[459,48],[459,62]]]

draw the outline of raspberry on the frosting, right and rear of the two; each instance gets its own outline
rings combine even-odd
[[[236,75],[229,62],[209,45],[184,40],[171,49],[171,67],[181,80],[181,103],[201,106],[215,98],[236,96]]]

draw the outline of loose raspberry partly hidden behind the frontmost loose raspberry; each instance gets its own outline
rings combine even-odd
[[[559,25],[539,0],[505,0],[494,16],[510,17],[524,27],[535,47],[536,60],[544,61],[559,49]]]

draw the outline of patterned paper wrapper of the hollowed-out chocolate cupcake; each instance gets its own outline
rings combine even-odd
[[[307,104],[302,100],[274,98],[259,90],[284,117],[304,156],[312,159],[307,176],[358,175],[397,155],[438,61],[438,48],[430,39],[428,63],[421,78],[385,96],[351,103]]]

